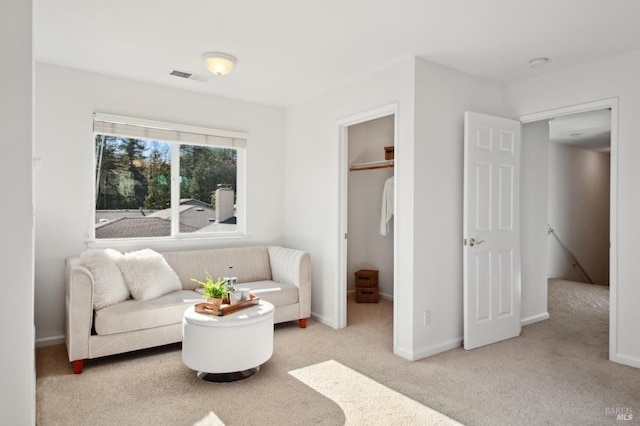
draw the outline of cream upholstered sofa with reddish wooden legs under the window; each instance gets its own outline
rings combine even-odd
[[[65,342],[74,373],[85,359],[160,346],[182,340],[185,309],[201,302],[192,278],[209,272],[214,279],[238,277],[239,287],[275,306],[274,323],[298,320],[301,328],[311,314],[309,254],[283,247],[245,247],[160,252],[178,275],[182,290],[152,300],[127,299],[93,309],[94,278],[79,257],[66,262]]]

